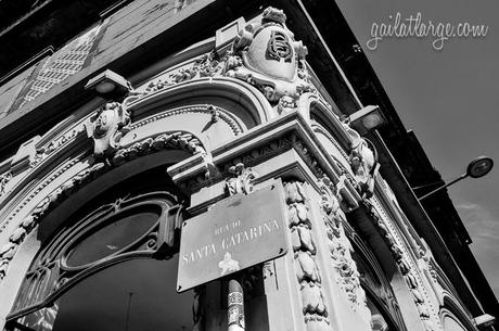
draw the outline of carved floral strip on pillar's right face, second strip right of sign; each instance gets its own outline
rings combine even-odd
[[[340,207],[342,196],[328,177],[322,177],[318,184],[322,196],[321,206],[328,231],[329,250],[338,275],[336,281],[345,292],[353,310],[360,310],[366,320],[369,320],[371,315],[366,305],[366,293],[360,287],[360,275],[350,254],[353,247],[343,228],[346,216]]]

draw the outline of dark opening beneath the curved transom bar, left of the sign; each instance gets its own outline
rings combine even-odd
[[[86,278],[18,323],[52,331],[192,330],[193,293],[176,292],[177,263],[177,257],[124,260]]]

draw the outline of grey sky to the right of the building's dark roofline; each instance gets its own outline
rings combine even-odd
[[[448,192],[473,241],[470,247],[499,297],[499,2],[336,2],[406,128],[415,132],[444,180],[463,174],[476,156],[496,161],[486,177],[464,179]],[[431,34],[404,34],[399,24],[398,37],[384,37],[389,30],[381,35],[381,24],[394,27],[397,13],[407,24],[406,18],[421,13],[422,24],[450,23],[453,31],[459,24],[484,25],[486,36],[455,37],[442,44]],[[438,35],[438,28],[434,31]],[[368,44],[373,37],[383,38]]]

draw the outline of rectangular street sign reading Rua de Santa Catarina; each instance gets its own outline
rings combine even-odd
[[[177,291],[183,292],[286,253],[282,183],[228,198],[183,222]]]

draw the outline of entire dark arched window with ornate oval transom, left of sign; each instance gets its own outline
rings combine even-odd
[[[182,206],[157,187],[120,183],[62,221],[42,240],[5,329],[192,329],[195,295],[176,291]]]

